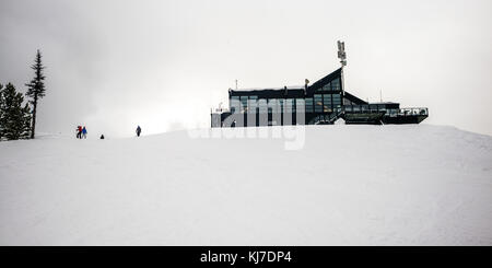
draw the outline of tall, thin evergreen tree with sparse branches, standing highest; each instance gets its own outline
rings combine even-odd
[[[35,77],[31,80],[30,83],[25,84],[27,86],[27,93],[25,93],[31,100],[30,103],[33,104],[33,124],[31,126],[31,139],[34,139],[34,133],[36,129],[36,112],[37,112],[37,101],[45,96],[45,75],[43,74],[43,69],[45,67],[42,62],[42,55],[39,49],[36,54],[36,59],[34,60],[34,65],[31,66],[31,69],[34,70]]]

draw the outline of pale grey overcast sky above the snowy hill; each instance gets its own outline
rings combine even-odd
[[[36,49],[38,131],[132,136],[210,126],[227,89],[315,82],[339,67],[364,100],[492,135],[492,1],[1,0],[0,83],[25,92]]]

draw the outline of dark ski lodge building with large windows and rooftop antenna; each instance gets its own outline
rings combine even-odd
[[[229,109],[211,113],[211,127],[345,124],[419,124],[427,108],[401,108],[399,103],[368,103],[343,86],[344,44],[339,42],[342,67],[308,85],[265,90],[229,90]]]

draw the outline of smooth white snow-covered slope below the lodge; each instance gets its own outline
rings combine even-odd
[[[492,245],[492,137],[336,125],[284,141],[0,142],[0,245]]]

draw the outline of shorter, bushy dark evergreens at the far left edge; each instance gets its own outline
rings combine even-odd
[[[31,132],[28,127],[31,123],[31,110],[27,104],[22,107],[23,102],[24,96],[22,93],[16,92],[15,88],[11,83],[8,83],[2,91],[2,103],[0,107],[2,114],[0,118],[0,136],[2,138],[8,140],[28,138]]]

